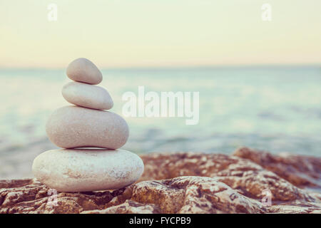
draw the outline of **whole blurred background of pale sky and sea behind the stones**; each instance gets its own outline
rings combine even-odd
[[[68,105],[65,69],[79,57],[101,69],[120,115],[121,96],[138,86],[200,93],[198,125],[126,118],[128,150],[320,156],[320,9],[318,0],[0,0],[0,179],[31,177],[34,157],[56,148],[46,120]]]

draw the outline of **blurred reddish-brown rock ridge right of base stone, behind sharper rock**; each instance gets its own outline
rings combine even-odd
[[[142,156],[145,171],[141,180],[170,179],[179,176],[213,177],[243,195],[254,199],[272,192],[272,200],[307,199],[310,195],[275,173],[240,157],[219,154],[174,153]]]

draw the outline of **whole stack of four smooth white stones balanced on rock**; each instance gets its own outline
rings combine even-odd
[[[131,185],[143,173],[143,161],[118,149],[128,139],[128,125],[116,113],[108,91],[97,85],[101,71],[88,59],[78,58],[67,68],[73,82],[63,86],[69,103],[46,123],[51,142],[64,149],[49,150],[35,158],[37,180],[61,192],[113,190]],[[98,147],[98,148],[88,148]]]

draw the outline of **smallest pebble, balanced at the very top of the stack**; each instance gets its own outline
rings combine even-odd
[[[73,81],[91,85],[97,85],[103,81],[101,71],[87,58],[77,58],[69,63],[66,73]]]

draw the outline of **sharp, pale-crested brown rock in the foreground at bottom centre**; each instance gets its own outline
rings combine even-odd
[[[144,192],[144,194],[141,194]],[[162,213],[262,213],[262,204],[210,177],[175,177],[139,182],[132,199],[156,204]]]

